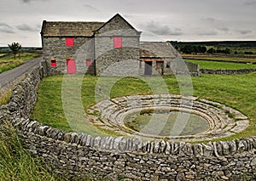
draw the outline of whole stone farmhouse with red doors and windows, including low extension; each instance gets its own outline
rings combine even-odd
[[[108,22],[50,22],[41,30],[48,75],[143,76],[175,73],[175,49],[169,42],[140,42],[120,14]]]

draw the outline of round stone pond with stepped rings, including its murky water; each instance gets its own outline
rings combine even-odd
[[[175,94],[103,100],[86,112],[96,127],[145,139],[210,140],[249,126],[247,116],[226,105]]]

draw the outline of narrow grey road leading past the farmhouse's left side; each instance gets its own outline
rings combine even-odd
[[[40,64],[42,58],[26,60],[23,65],[16,67],[15,69],[4,71],[0,74],[0,90],[8,89],[13,83],[20,81],[23,75],[33,67]]]

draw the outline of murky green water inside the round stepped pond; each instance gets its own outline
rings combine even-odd
[[[193,135],[209,128],[205,118],[177,110],[142,110],[125,116],[124,122],[137,132],[160,136]]]

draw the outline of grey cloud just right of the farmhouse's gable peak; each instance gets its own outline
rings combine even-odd
[[[183,35],[181,29],[169,27],[168,25],[161,25],[159,22],[150,21],[145,26],[145,29],[157,35]]]

